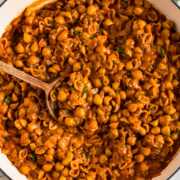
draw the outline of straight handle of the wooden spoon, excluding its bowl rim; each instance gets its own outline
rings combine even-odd
[[[45,83],[19,69],[16,69],[12,65],[3,61],[0,61],[0,70],[44,91],[49,89],[48,83]]]

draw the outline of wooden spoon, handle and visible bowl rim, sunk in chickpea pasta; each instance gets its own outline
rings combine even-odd
[[[19,69],[16,69],[15,67],[13,67],[12,65],[10,64],[7,64],[5,62],[2,62],[0,61],[0,70],[2,70],[3,72],[9,74],[9,75],[12,75],[34,87],[37,87],[41,90],[43,90],[45,92],[45,95],[46,95],[46,105],[47,105],[47,108],[48,108],[48,111],[50,113],[50,115],[56,119],[56,115],[53,111],[53,108],[52,108],[52,103],[50,102],[50,92],[56,88],[59,84],[60,84],[60,80],[61,78],[57,78],[56,80],[54,80],[52,83],[46,83],[46,82],[43,82]]]

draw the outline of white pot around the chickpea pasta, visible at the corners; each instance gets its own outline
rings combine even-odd
[[[0,0],[0,5],[4,0]],[[19,15],[25,7],[30,5],[35,0],[6,0],[0,7],[0,36],[5,31],[7,25]],[[52,1],[52,0],[41,0]],[[180,10],[171,2],[171,0],[149,0],[157,9],[159,9],[169,19],[173,20],[178,31],[180,31]],[[177,153],[168,167],[164,169],[160,176],[153,180],[166,180],[178,168],[180,168],[180,152]],[[0,153],[0,169],[2,169],[12,180],[26,180],[25,176],[21,175],[15,166],[7,159],[5,155]],[[180,173],[173,180],[180,180]]]

